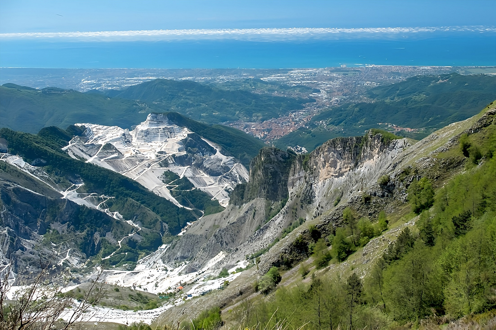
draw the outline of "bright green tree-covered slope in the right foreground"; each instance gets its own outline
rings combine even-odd
[[[241,328],[250,328],[262,320],[261,327],[265,329],[341,327],[358,330],[444,329],[443,323],[467,316],[467,321],[458,322],[472,321],[471,324],[481,326],[480,329],[493,329],[496,312],[495,122],[476,134],[463,135],[456,149],[440,154],[439,158],[445,157],[446,161],[452,157],[463,158],[467,145],[470,152],[466,172],[435,190],[434,199],[423,210],[415,207],[412,196],[415,192],[408,189],[410,204],[420,216],[412,229],[408,226],[403,229],[375,260],[375,266],[365,278],[360,278],[359,270],[354,273],[353,267],[347,269],[347,274],[338,268],[348,257],[346,250],[356,248],[354,240],[367,238],[369,227],[362,218],[358,223],[348,221],[345,228],[336,229],[335,235],[314,243],[314,264],[322,253],[333,258],[334,265],[327,269],[328,273],[314,272],[308,280],[297,282],[298,285],[290,289],[278,288],[265,299],[256,296],[248,307],[244,305],[249,313],[238,310],[225,317]],[[474,157],[479,153],[479,158]],[[343,214],[343,217],[348,216]],[[332,244],[330,253],[329,243]],[[345,251],[343,259],[339,251]],[[370,251],[366,258],[371,258]],[[308,272],[307,264],[300,267],[299,274],[291,272],[291,275],[305,278]],[[277,319],[271,318],[274,313]],[[418,325],[423,328],[417,328]]]

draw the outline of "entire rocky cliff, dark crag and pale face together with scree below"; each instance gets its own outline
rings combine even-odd
[[[326,230],[332,230],[339,225],[339,210],[347,203],[389,194],[387,189],[374,192],[371,187],[377,186],[393,159],[409,146],[408,139],[386,145],[380,134],[371,133],[329,140],[298,157],[263,148],[250,164],[248,183],[235,188],[228,209],[194,223],[169,258],[181,255],[197,269],[223,251],[226,256],[218,267],[228,268],[269,246],[299,219],[320,217],[330,226]],[[278,204],[279,209],[267,207],[281,200],[284,205]],[[277,214],[269,216],[274,209]]]

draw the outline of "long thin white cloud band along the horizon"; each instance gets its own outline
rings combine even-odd
[[[0,40],[62,39],[77,41],[181,41],[181,40],[247,40],[291,41],[308,39],[388,38],[433,32],[496,33],[495,27],[387,27],[387,28],[289,28],[289,29],[191,29],[138,30],[100,32],[27,32],[0,33]]]

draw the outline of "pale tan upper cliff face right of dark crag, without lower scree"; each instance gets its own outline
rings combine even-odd
[[[292,167],[290,199],[300,199],[317,217],[357,194],[366,197],[392,159],[411,145],[409,139],[386,145],[380,134],[372,133],[329,140]]]

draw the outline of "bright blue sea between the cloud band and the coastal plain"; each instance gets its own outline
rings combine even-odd
[[[304,68],[345,64],[496,65],[496,36],[254,42],[0,42],[0,67]]]

